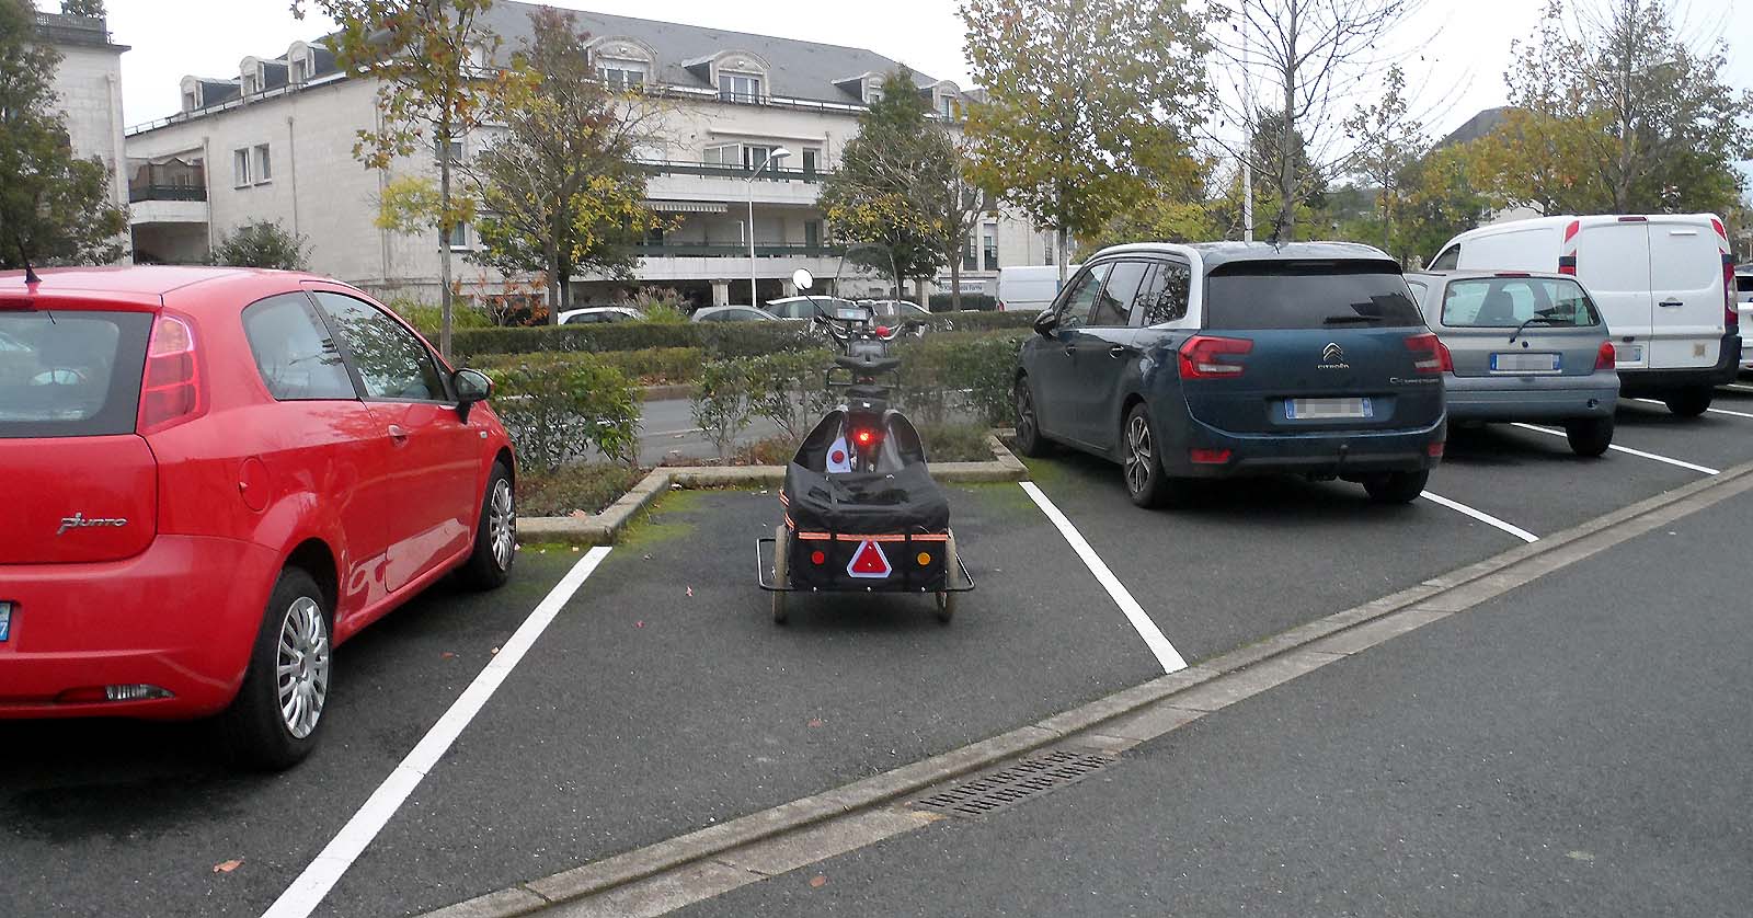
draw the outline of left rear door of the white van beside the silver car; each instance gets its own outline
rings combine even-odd
[[[1576,279],[1600,308],[1620,370],[1646,370],[1655,326],[1650,298],[1650,224],[1579,221]],[[1551,270],[1551,268],[1544,268]],[[1721,272],[1721,263],[1716,266]],[[1720,307],[1718,307],[1720,308]]]

